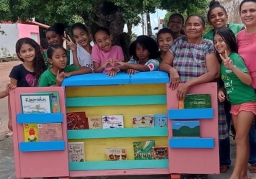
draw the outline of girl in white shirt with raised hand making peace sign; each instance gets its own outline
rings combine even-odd
[[[88,67],[93,70],[92,65],[92,46],[87,27],[84,24],[76,23],[71,27],[71,33],[77,44],[75,45],[69,37],[67,40],[70,51],[70,63],[76,66]]]

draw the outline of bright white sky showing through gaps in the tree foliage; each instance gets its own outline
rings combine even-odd
[[[158,31],[158,30],[154,30],[154,27],[158,27],[158,19],[159,18],[164,18],[166,13],[167,13],[167,11],[165,11],[165,10],[156,9],[156,13],[150,14],[151,29],[152,29],[153,34],[156,34],[156,32]],[[146,20],[146,16],[144,16],[144,19]],[[123,31],[127,32],[127,26],[126,25],[125,25],[125,28],[124,28]],[[142,35],[141,24],[138,24],[138,26],[133,27],[132,32],[136,33],[136,35]]]

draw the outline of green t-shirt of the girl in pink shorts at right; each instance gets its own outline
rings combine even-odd
[[[239,70],[249,73],[244,60],[237,53],[231,53],[229,58]],[[252,86],[242,83],[237,75],[224,67],[224,64],[221,64],[221,79],[224,81],[226,93],[232,105],[256,101],[255,89]]]

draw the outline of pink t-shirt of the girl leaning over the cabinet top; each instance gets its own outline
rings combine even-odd
[[[115,45],[112,46],[109,51],[100,50],[98,45],[92,47],[92,61],[97,62],[100,65],[104,65],[108,59],[113,58],[118,61],[123,61],[123,50],[121,47]],[[114,67],[114,66],[113,66]],[[109,72],[113,67],[105,68],[103,73]]]

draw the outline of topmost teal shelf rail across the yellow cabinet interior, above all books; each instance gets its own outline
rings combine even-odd
[[[67,107],[167,104],[166,95],[66,98]]]

